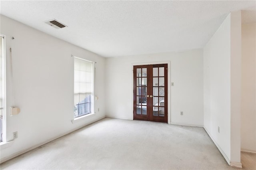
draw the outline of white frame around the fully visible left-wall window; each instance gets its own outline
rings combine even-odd
[[[90,62],[92,63],[92,94],[90,95],[90,110],[91,112],[86,114],[86,115],[81,115],[81,116],[78,116],[78,117],[74,117],[74,120],[77,120],[77,119],[81,119],[83,117],[87,117],[89,115],[93,115],[95,112],[95,109],[94,109],[94,85],[95,85],[95,67],[94,67],[94,61],[90,61],[88,59],[84,59],[84,58],[81,58],[81,57],[76,57],[76,56],[73,56],[73,61],[75,59],[80,59],[80,60],[83,60],[83,61],[87,61],[87,62]],[[73,62],[73,71],[75,71],[75,68],[74,68],[74,62]],[[74,72],[73,72],[73,75],[74,75]],[[73,77],[73,85],[74,85],[74,77]],[[74,87],[75,88],[75,87]],[[73,88],[73,91],[74,91],[74,88]],[[74,93],[75,94],[75,93]],[[74,98],[73,98],[74,99]],[[74,103],[74,101],[73,101]],[[78,104],[79,105],[79,104]],[[75,107],[75,106],[74,106]],[[73,116],[74,116],[74,113],[73,113]]]

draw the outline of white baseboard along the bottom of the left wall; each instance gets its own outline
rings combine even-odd
[[[104,119],[105,117],[106,117],[106,116],[101,117],[101,118],[99,118],[99,119],[96,119],[95,121],[91,121],[91,122],[86,123],[85,125],[82,125],[82,126],[80,126],[80,127],[74,128],[74,129],[72,129],[72,130],[68,130],[68,131],[64,132],[63,134],[61,134],[61,135],[59,135],[59,136],[57,136],[57,137],[55,137],[55,138],[48,139],[48,140],[46,140],[46,141],[44,141],[44,142],[41,142],[41,143],[39,143],[39,144],[36,144],[35,146],[32,146],[32,147],[30,147],[30,148],[26,148],[26,149],[24,149],[24,150],[21,150],[21,151],[19,151],[19,152],[16,152],[16,153],[14,153],[14,154],[11,154],[10,156],[6,156],[6,157],[4,157],[4,158],[2,158],[2,159],[0,160],[0,164],[2,164],[3,162],[6,162],[7,160],[10,160],[10,159],[12,159],[12,158],[15,158],[15,157],[17,157],[17,156],[19,156],[19,155],[21,155],[21,154],[24,154],[24,153],[26,153],[26,152],[28,152],[28,151],[30,151],[30,150],[32,150],[32,149],[38,148],[39,146],[42,146],[42,145],[44,145],[44,144],[46,144],[46,143],[49,143],[49,142],[51,142],[52,140],[55,140],[55,139],[57,139],[57,138],[60,138],[60,137],[62,137],[62,136],[65,136],[66,134],[69,134],[69,133],[71,133],[71,132],[74,132],[75,130],[78,130],[78,129],[82,128],[82,127],[85,127],[85,126],[87,126],[87,125],[90,125],[90,124],[92,124],[92,123],[94,123],[94,122],[96,122],[96,121],[99,121],[99,120],[101,120],[101,119]]]

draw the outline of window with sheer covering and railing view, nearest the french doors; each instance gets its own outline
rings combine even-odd
[[[74,118],[92,113],[93,63],[74,57]]]

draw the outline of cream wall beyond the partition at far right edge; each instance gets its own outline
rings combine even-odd
[[[256,152],[256,23],[242,25],[241,148]]]

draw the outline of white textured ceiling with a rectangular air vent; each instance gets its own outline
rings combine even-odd
[[[202,48],[230,11],[256,1],[0,1],[0,14],[104,57]],[[44,21],[56,19],[67,28]]]

